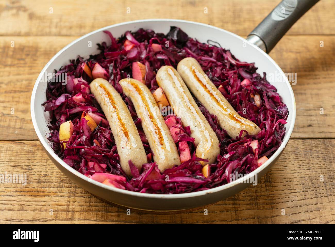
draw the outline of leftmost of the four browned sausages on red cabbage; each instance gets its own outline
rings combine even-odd
[[[120,165],[131,176],[128,161],[131,160],[141,170],[142,165],[147,163],[147,157],[130,112],[120,94],[105,79],[93,80],[90,88],[111,126]]]

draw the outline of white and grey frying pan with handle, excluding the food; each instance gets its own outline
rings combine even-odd
[[[82,36],[65,46],[51,58],[37,78],[32,91],[31,118],[42,147],[55,165],[72,181],[90,194],[107,203],[120,205],[122,208],[165,211],[165,213],[168,211],[178,212],[178,210],[201,208],[244,190],[251,183],[243,181],[251,181],[251,178],[255,177],[256,174],[259,179],[280,157],[291,136],[295,121],[295,100],[291,85],[283,71],[267,53],[271,51],[296,20],[317,2],[318,0],[284,0],[280,2],[262,23],[250,33],[247,39],[210,25],[176,19],[135,20],[108,26]],[[278,93],[289,109],[287,124],[285,124],[286,134],[281,146],[267,162],[243,178],[209,190],[176,195],[145,194],[112,188],[94,181],[68,166],[53,152],[51,143],[47,140],[50,133],[47,127],[50,115],[48,112],[44,112],[44,107],[42,107],[42,103],[46,101],[47,82],[43,80],[45,73],[53,72],[54,69],[65,66],[70,58],[73,59],[77,55],[88,58],[90,54],[99,53],[95,47],[88,47],[87,44],[89,41],[92,44],[103,41],[110,44],[109,38],[103,33],[104,30],[109,30],[114,37],[120,37],[127,30],[136,31],[139,28],[167,33],[170,26],[181,28],[189,37],[196,38],[200,42],[205,43],[207,40],[218,42],[222,47],[230,49],[231,53],[241,61],[255,62],[259,74],[262,74],[262,72],[266,72],[267,75],[273,73],[277,75],[276,78],[280,75],[281,80],[273,80],[270,83],[278,89]]]

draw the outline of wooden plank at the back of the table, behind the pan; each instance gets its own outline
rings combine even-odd
[[[280,0],[1,1],[0,35],[84,35],[136,19],[175,18],[249,34]],[[292,35],[335,34],[333,0],[323,0],[288,32]],[[52,9],[51,9],[52,8]],[[207,13],[205,13],[207,8]],[[127,13],[127,10],[130,13]],[[52,13],[51,13],[52,12]]]

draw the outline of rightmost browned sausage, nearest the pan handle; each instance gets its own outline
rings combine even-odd
[[[258,134],[261,129],[250,120],[241,117],[229,104],[222,93],[202,70],[193,57],[186,57],[178,63],[177,70],[187,87],[210,114],[216,115],[222,129],[232,138],[246,130],[250,135]],[[245,132],[243,132],[243,135]]]

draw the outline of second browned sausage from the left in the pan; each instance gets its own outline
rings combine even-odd
[[[119,83],[123,92],[133,102],[137,116],[141,118],[142,128],[158,169],[164,171],[174,165],[180,165],[176,143],[150,90],[135,79],[122,79]]]

